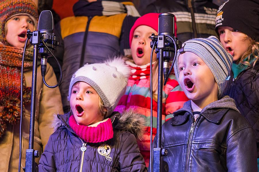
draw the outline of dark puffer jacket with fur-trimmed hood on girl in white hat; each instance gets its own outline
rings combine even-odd
[[[81,140],[69,126],[70,115],[58,115],[58,129],[50,136],[41,155],[39,171],[147,171],[134,136],[139,138],[143,133],[144,121],[138,115],[128,112],[121,117],[113,112],[114,136],[101,143]],[[110,146],[111,161],[98,153],[102,144]]]

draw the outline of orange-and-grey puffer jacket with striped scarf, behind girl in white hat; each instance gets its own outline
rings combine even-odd
[[[63,63],[60,93],[64,112],[69,109],[67,96],[72,75],[86,63],[129,55],[129,31],[139,17],[132,2],[79,0],[73,11],[75,16],[66,17],[55,26],[56,35],[62,38],[55,55]],[[58,68],[55,73],[59,73]]]

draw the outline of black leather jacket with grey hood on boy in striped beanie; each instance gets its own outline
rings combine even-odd
[[[210,103],[196,122],[191,101],[174,116],[162,126],[161,146],[168,151],[163,160],[169,171],[257,172],[253,128],[232,98],[225,96]]]

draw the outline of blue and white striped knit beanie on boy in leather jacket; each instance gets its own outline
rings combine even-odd
[[[220,98],[225,88],[225,81],[230,78],[233,57],[226,52],[216,36],[188,40],[178,51],[174,64],[174,71],[179,84],[178,58],[180,54],[187,51],[199,56],[210,68],[218,85],[218,97]]]

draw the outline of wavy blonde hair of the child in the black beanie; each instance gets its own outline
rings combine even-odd
[[[255,58],[255,61],[253,63],[253,67],[256,64],[258,58],[259,58],[259,42],[253,40],[252,38],[250,38],[249,36],[247,36],[246,39],[250,40],[250,46],[248,47],[247,51],[241,56],[241,58],[238,60],[239,63],[243,64],[243,65],[248,65],[250,66],[250,60],[251,57]],[[248,56],[248,61],[243,61],[246,57]]]

